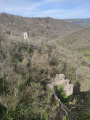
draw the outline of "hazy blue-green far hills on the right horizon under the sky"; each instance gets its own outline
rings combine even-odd
[[[69,23],[74,23],[74,24],[77,24],[77,25],[81,25],[81,26],[84,26],[84,27],[89,27],[90,26],[90,18],[87,18],[87,19],[67,19],[67,20],[64,20],[66,22],[69,22]]]

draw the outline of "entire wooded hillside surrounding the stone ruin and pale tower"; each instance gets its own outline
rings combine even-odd
[[[24,31],[30,31],[28,40]],[[89,40],[89,28],[62,20],[1,14],[0,119],[90,118],[90,61],[81,54],[88,50],[89,55]],[[62,104],[48,87],[56,74],[74,85],[69,97],[63,86],[54,88]]]

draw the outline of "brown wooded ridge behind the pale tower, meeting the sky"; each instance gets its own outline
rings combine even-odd
[[[6,13],[0,14],[0,24],[4,31],[10,30],[11,34],[21,36],[22,32],[30,31],[31,37],[56,39],[60,36],[79,29],[79,25],[68,23],[53,18],[25,18]]]

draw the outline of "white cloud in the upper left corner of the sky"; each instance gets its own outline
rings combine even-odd
[[[5,0],[4,0],[5,1]],[[22,11],[32,11],[32,10],[36,10],[36,8],[40,5],[42,5],[41,2],[37,2],[37,3],[32,3],[32,2],[29,2],[29,4],[27,4],[27,2],[23,2],[21,3],[20,1],[17,2],[17,0],[15,2],[11,2],[11,0],[8,0],[9,3],[8,4],[4,4],[4,1],[1,3],[2,5],[0,5],[0,12],[22,12]],[[13,1],[13,0],[12,0]],[[18,3],[16,5],[16,2]]]

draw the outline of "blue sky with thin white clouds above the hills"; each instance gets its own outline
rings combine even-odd
[[[90,18],[90,0],[0,0],[0,13],[56,19]]]

